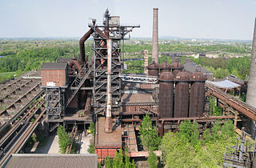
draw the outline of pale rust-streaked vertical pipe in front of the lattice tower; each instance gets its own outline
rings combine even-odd
[[[112,121],[111,121],[111,106],[112,106],[112,95],[111,95],[111,62],[112,62],[112,39],[106,40],[107,47],[107,79],[106,79],[106,125],[105,132],[112,132]]]

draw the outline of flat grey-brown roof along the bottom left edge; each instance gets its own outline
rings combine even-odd
[[[12,154],[3,167],[97,167],[97,154]]]

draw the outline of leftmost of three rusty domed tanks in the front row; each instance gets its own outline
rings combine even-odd
[[[174,109],[174,76],[162,72],[159,77],[159,115],[160,118],[173,118]]]

